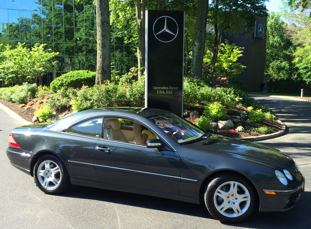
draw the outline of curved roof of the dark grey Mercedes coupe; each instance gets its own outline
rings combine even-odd
[[[137,108],[137,107],[109,107],[109,108],[96,108],[77,112],[69,117],[61,119],[55,123],[52,123],[44,128],[51,131],[61,131],[82,120],[86,120],[91,117],[116,115],[120,117],[137,118],[138,116],[149,118],[155,115],[170,113],[165,110],[154,109],[154,108]]]

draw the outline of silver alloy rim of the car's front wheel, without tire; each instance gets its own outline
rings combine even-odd
[[[230,218],[243,215],[249,207],[250,200],[247,188],[236,181],[228,181],[219,185],[214,193],[216,209]]]

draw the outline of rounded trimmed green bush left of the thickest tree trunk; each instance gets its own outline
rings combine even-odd
[[[57,92],[64,88],[81,88],[83,85],[92,87],[95,84],[96,72],[79,70],[67,72],[51,82],[51,90]]]

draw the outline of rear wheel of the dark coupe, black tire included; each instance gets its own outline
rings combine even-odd
[[[46,194],[58,194],[70,186],[64,163],[53,155],[41,157],[35,163],[33,175],[37,187]]]

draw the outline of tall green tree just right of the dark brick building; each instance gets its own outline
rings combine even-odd
[[[265,80],[289,78],[296,75],[291,55],[294,45],[284,29],[285,22],[281,14],[271,12],[267,19],[267,45],[265,62]],[[270,88],[269,88],[270,89]]]

